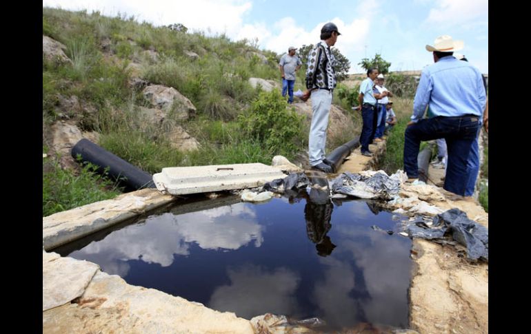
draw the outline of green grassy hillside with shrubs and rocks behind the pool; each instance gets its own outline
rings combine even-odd
[[[286,107],[278,90],[266,94],[248,83],[250,77],[279,80],[280,55],[258,50],[251,41],[51,8],[43,8],[43,35],[63,43],[72,61],[50,61],[43,54],[43,152],[53,151],[57,121],[97,132],[99,145],[150,173],[168,166],[270,164],[274,155],[294,160],[305,151],[301,117]],[[140,110],[150,105],[133,80],[174,87],[197,107],[197,115],[183,121],[170,112],[161,125],[146,125]],[[170,145],[166,134],[176,126],[199,141],[199,150],[181,152]],[[48,182],[59,172],[63,180],[101,183],[88,169],[59,171],[50,153],[43,160],[44,214],[82,202],[60,194],[67,186],[83,196],[83,183],[63,182],[59,191],[58,182]]]

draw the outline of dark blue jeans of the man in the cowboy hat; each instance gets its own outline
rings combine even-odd
[[[421,119],[405,129],[404,169],[409,178],[419,177],[417,156],[421,141],[444,138],[448,147],[448,163],[444,189],[464,196],[468,184],[467,160],[477,137],[479,116],[437,116]]]

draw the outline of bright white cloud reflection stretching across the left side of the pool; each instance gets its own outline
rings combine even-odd
[[[136,260],[168,267],[173,255],[188,255],[190,242],[203,249],[239,249],[251,240],[255,247],[263,242],[262,229],[254,211],[243,205],[210,209],[174,216],[152,216],[141,225],[130,225],[112,232],[104,240],[83,249],[103,271],[123,277],[128,272],[121,261]]]

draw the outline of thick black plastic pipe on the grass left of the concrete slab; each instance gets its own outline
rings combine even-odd
[[[115,156],[85,138],[79,140],[72,147],[71,154],[74,159],[80,154],[83,162],[89,162],[99,166],[97,172],[100,174],[103,174],[105,168],[109,167],[109,175],[115,180],[118,180],[126,188],[126,191],[155,187],[151,174],[134,167],[126,160]]]

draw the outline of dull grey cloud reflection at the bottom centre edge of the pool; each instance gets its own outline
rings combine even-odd
[[[266,312],[292,314],[297,310],[294,292],[300,278],[287,268],[269,272],[252,264],[228,269],[230,285],[215,289],[208,306],[250,319]]]

